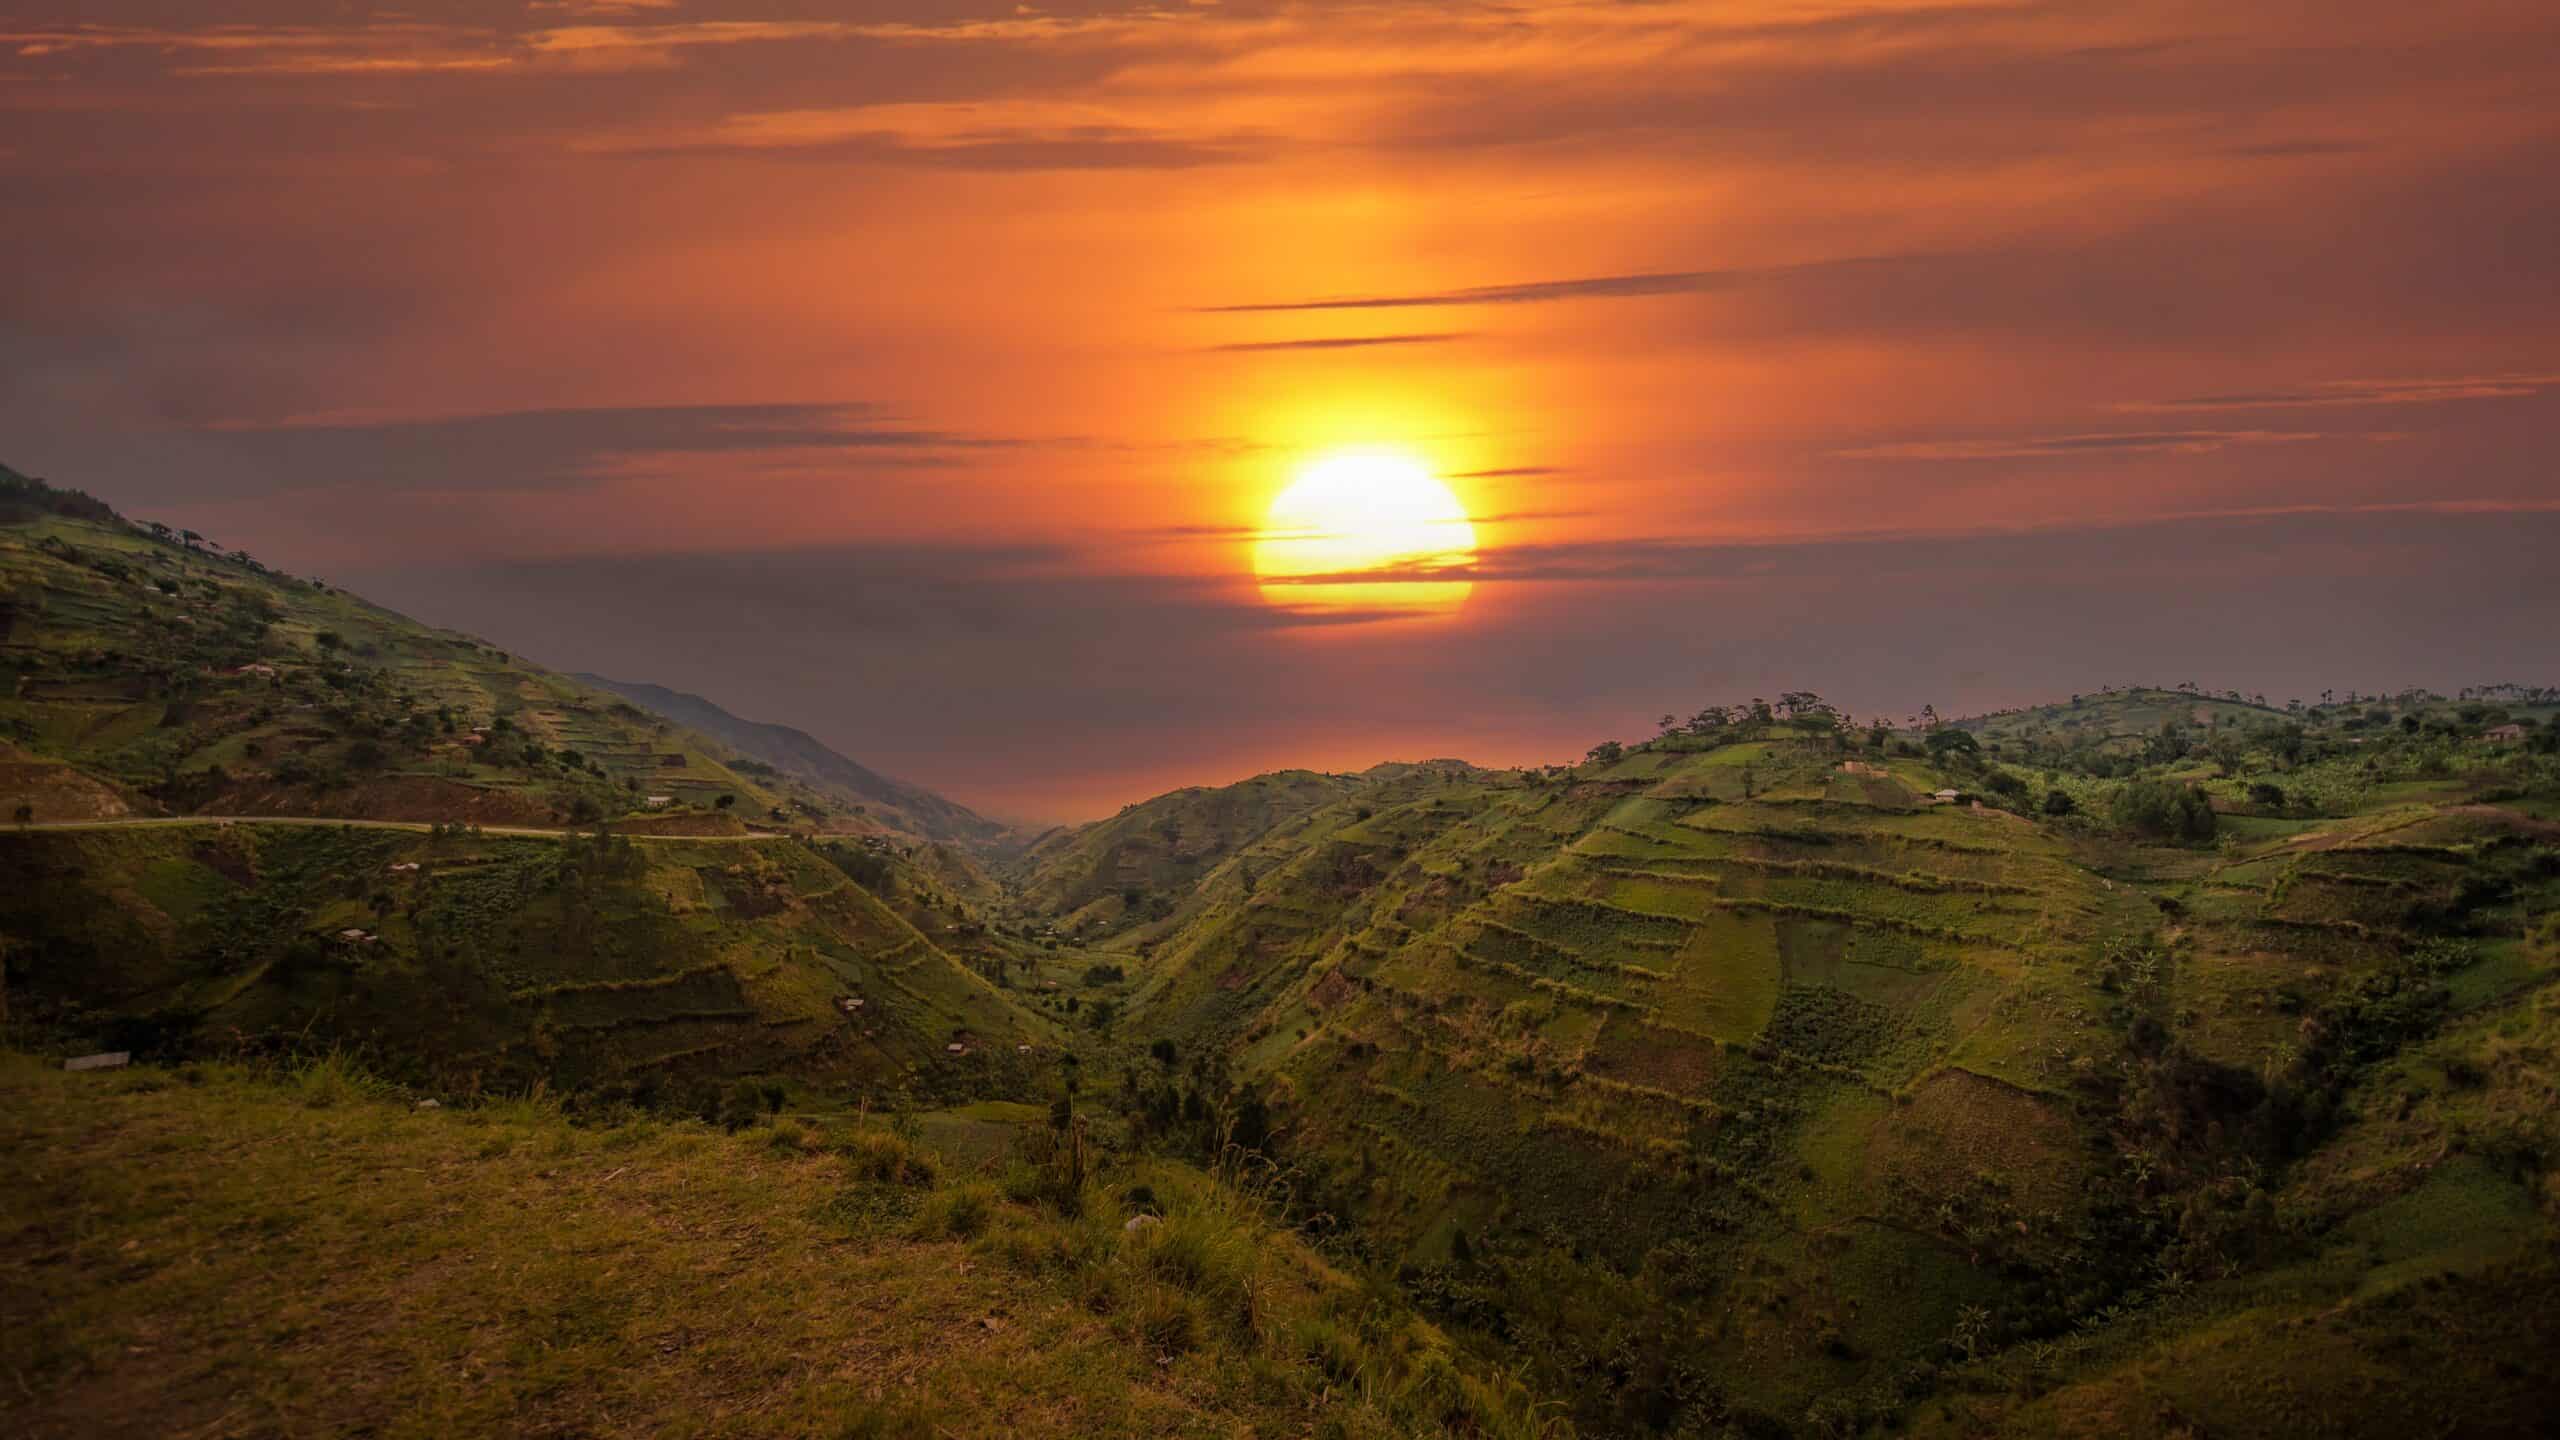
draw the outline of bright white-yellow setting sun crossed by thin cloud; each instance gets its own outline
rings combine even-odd
[[[1341,451],[1306,466],[1272,500],[1254,541],[1262,597],[1290,610],[1446,615],[1475,584],[1408,577],[1469,564],[1467,505],[1421,461],[1393,451]]]

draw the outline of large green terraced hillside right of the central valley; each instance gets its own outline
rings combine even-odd
[[[2560,966],[2532,802],[2209,851],[1976,805],[1997,769],[1843,740],[1674,735],[1311,812],[1185,899],[1137,1025],[1257,1076],[1311,1204],[1597,1430],[1910,1420],[1935,1376],[2035,1355],[2020,1394],[2150,1394],[2140,1338],[2171,1304],[2376,1302],[2353,1245],[2386,1232],[2412,1281],[2442,1258],[2519,1284],[2560,1209],[2524,1099]],[[2424,1074],[2427,1040],[2506,1056],[2481,1109],[2540,1158],[2345,1158],[2386,1145],[2360,1097]],[[2483,1217],[2460,1243],[2386,1220],[2440,1202]],[[2519,1414],[2516,1376],[2463,1373],[2483,1422]]]

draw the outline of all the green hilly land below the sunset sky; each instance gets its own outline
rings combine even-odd
[[[1009,851],[84,497],[0,564],[31,1432],[2545,1425],[2547,689],[1789,692]]]

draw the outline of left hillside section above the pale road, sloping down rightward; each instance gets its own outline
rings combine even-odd
[[[617,694],[8,474],[0,792],[38,822],[205,812],[893,830],[929,810],[911,797],[852,817],[832,789]]]

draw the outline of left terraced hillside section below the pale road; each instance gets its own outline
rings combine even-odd
[[[443,1086],[1021,1094],[1055,1030],[781,838],[38,830],[0,835],[0,938],[64,1043],[343,1043]]]

